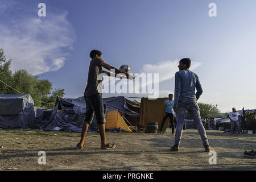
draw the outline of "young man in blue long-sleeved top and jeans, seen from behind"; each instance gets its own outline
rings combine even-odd
[[[203,140],[203,146],[206,152],[213,151],[209,146],[207,134],[201,121],[200,110],[197,100],[203,93],[199,77],[196,73],[189,71],[191,60],[189,58],[181,59],[179,62],[179,72],[175,73],[175,92],[174,92],[174,111],[177,117],[177,127],[175,134],[175,143],[171,151],[179,151],[180,140],[183,131],[185,111],[191,113],[197,130]],[[195,89],[197,92],[195,93]]]

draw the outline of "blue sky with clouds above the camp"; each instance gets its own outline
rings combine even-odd
[[[216,17],[208,15],[212,2]],[[92,49],[114,67],[160,73],[160,97],[174,93],[177,60],[190,57],[199,101],[222,112],[255,109],[255,8],[254,0],[0,0],[0,47],[13,71],[27,69],[72,98],[84,93]]]

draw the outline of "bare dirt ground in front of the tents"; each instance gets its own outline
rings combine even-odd
[[[101,150],[100,134],[90,133],[80,150],[80,133],[0,129],[0,170],[256,170],[256,159],[243,155],[256,149],[255,134],[207,130],[217,153],[217,164],[209,165],[197,130],[184,130],[179,152],[170,151],[170,133],[106,133],[115,150]],[[38,164],[39,151],[46,152],[45,165]]]

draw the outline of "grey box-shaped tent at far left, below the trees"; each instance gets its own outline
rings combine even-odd
[[[34,101],[30,94],[0,94],[0,127],[33,127]]]

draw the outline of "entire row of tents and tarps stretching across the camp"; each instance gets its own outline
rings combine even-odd
[[[160,127],[164,114],[164,101],[168,98],[151,100],[141,98],[141,103],[127,100],[125,97],[104,98],[106,109],[106,129],[119,129],[131,132],[130,126],[146,127],[148,122],[158,122]],[[242,128],[256,129],[256,111],[239,110],[242,115]],[[31,127],[48,131],[81,132],[85,118],[84,97],[56,98],[54,109],[35,107],[29,94],[0,94],[0,127]],[[93,117],[88,132],[97,132],[96,118]],[[175,117],[176,119],[176,117]],[[169,118],[163,131],[168,127]],[[218,126],[230,129],[228,118],[215,118]],[[193,120],[185,120],[187,129],[196,129]]]

